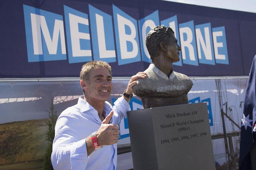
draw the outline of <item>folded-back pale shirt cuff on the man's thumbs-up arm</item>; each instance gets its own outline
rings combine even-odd
[[[86,149],[86,138],[71,145],[70,163],[72,170],[84,170],[87,166],[88,156]]]

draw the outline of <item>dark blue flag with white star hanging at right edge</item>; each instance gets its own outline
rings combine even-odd
[[[252,170],[250,150],[253,147],[253,128],[256,121],[256,56],[245,91],[243,118],[241,123],[241,140],[239,170]],[[255,130],[255,128],[254,128]],[[256,160],[255,160],[256,161]]]

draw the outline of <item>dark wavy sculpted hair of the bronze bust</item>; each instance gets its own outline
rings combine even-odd
[[[174,31],[165,26],[155,26],[149,31],[146,37],[146,47],[152,61],[160,54],[160,43],[169,44],[172,34]]]

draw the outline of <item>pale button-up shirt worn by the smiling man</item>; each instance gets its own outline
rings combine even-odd
[[[115,170],[117,144],[105,145],[87,156],[86,137],[98,131],[101,119],[98,112],[80,96],[78,104],[64,110],[55,126],[52,146],[52,165],[55,170]],[[127,117],[130,105],[123,97],[114,102],[114,107],[105,102],[106,116],[113,110],[112,124],[120,124]]]

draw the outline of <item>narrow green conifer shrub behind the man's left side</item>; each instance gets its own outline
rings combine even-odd
[[[43,170],[53,170],[52,162],[51,162],[52,143],[55,135],[55,124],[58,119],[58,115],[57,115],[58,111],[54,110],[53,99],[49,108],[50,108],[50,111],[47,110],[47,112],[50,120],[47,120],[46,122],[48,126],[48,129],[46,131],[46,140],[48,141],[48,146],[44,154]]]

